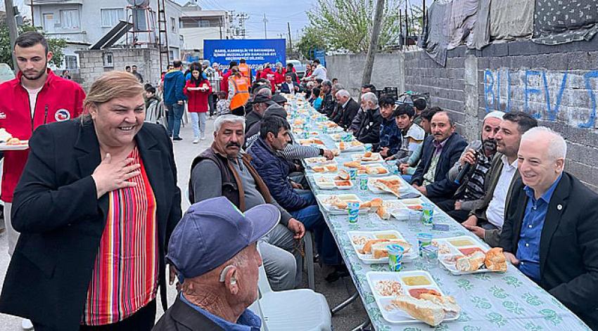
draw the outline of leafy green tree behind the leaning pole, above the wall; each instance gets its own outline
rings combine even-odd
[[[307,12],[310,32],[328,50],[366,53],[374,20],[374,0],[317,0]],[[378,50],[398,44],[400,38],[399,8],[403,0],[388,0],[382,14]]]

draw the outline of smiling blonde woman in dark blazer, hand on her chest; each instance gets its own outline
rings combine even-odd
[[[0,312],[36,331],[149,331],[158,287],[166,309],[164,257],[182,214],[172,143],[144,123],[144,88],[127,72],[103,74],[84,110],[29,141]]]

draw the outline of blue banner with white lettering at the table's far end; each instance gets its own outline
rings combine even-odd
[[[286,65],[286,39],[205,39],[203,58],[218,63],[221,70],[244,58],[255,74],[265,63],[271,63],[273,69],[276,62]]]

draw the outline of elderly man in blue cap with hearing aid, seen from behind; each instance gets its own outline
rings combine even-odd
[[[257,240],[279,219],[274,205],[243,214],[226,197],[192,205],[168,245],[181,292],[153,330],[259,331],[260,317],[247,309],[258,297]]]

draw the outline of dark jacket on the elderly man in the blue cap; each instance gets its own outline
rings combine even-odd
[[[203,316],[185,304],[179,294],[174,304],[164,312],[158,323],[151,329],[152,331],[203,331],[203,330],[224,330],[210,318]]]

